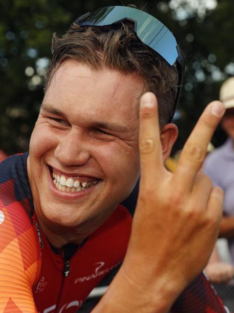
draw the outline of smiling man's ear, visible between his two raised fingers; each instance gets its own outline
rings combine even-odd
[[[161,131],[162,153],[164,161],[170,156],[172,147],[178,137],[178,128],[175,124],[166,124]]]

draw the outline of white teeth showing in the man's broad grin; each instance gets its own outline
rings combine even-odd
[[[74,180],[71,177],[66,178],[64,175],[59,176],[58,174],[55,174],[54,172],[52,173],[52,176],[54,179],[53,180],[54,185],[59,190],[66,191],[66,192],[79,192],[97,184],[97,180],[94,180],[92,182],[81,183],[78,179]]]

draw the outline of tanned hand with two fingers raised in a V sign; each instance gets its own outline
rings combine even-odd
[[[145,283],[145,290],[158,290],[160,281],[165,290],[167,281],[170,295],[177,297],[207,264],[222,217],[223,192],[200,169],[224,111],[219,101],[206,107],[172,174],[164,167],[157,99],[152,93],[142,96],[141,182],[123,269],[137,284]]]

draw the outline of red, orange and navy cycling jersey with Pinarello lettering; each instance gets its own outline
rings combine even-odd
[[[20,154],[0,164],[0,313],[75,313],[123,260],[137,193],[81,245],[68,244],[58,251],[37,222],[26,161],[27,154]],[[171,311],[225,313],[203,275],[184,290]]]

